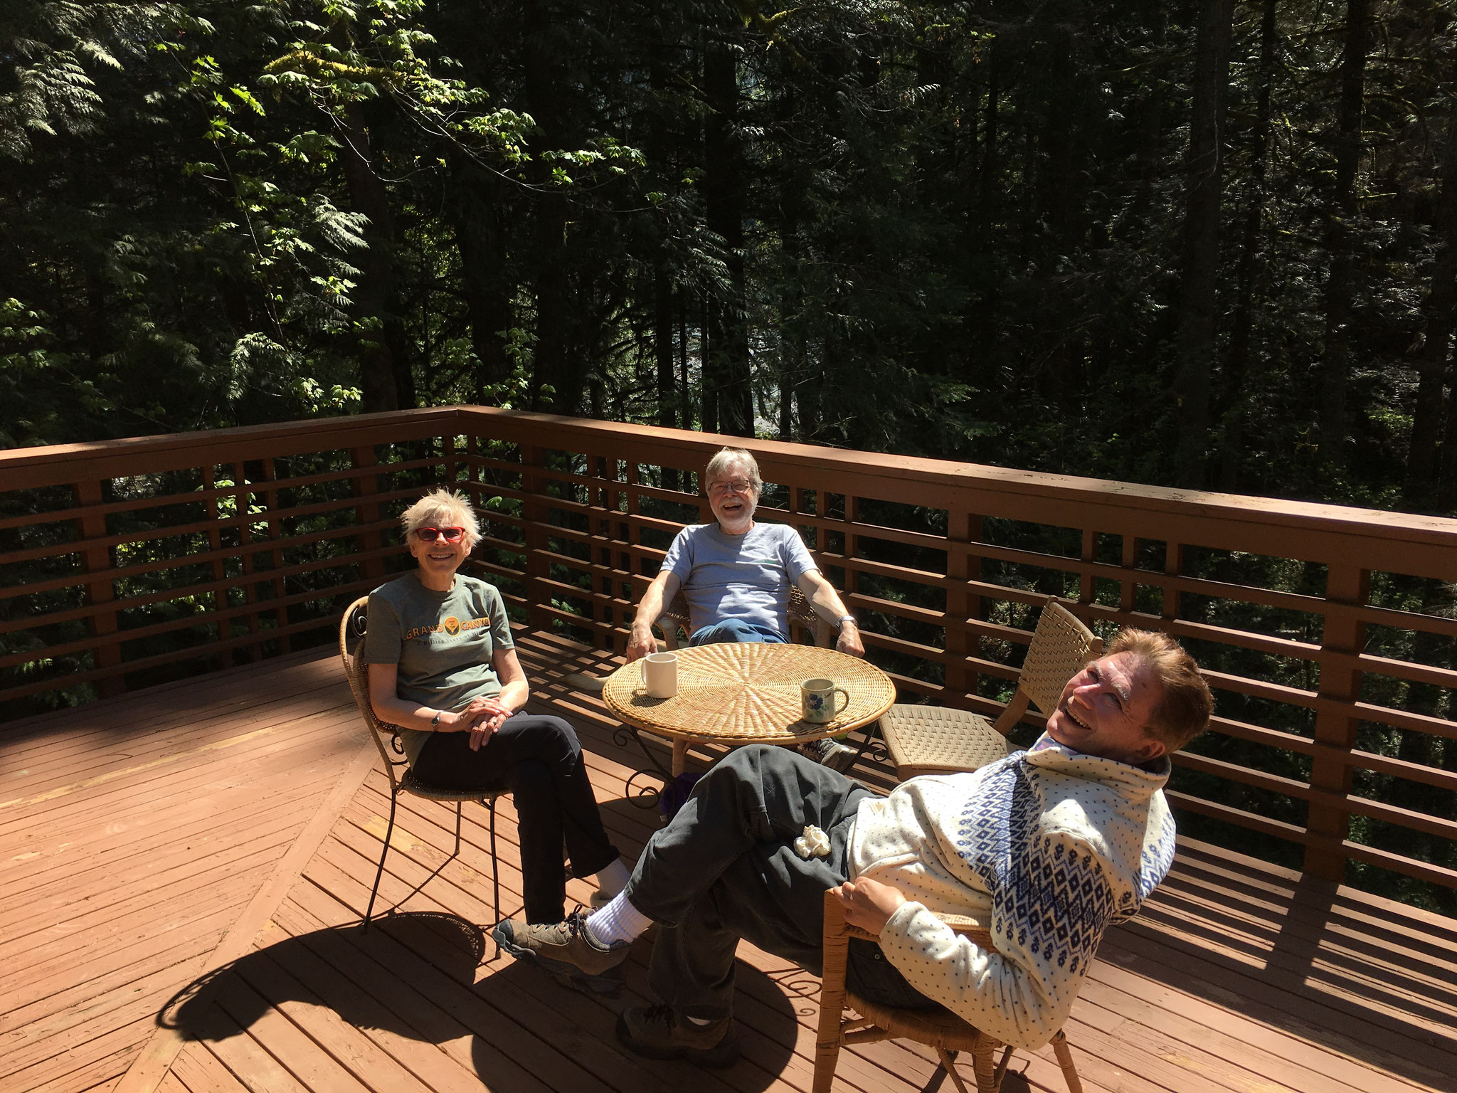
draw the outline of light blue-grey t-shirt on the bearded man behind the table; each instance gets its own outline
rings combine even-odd
[[[683,528],[667,548],[663,571],[678,574],[694,630],[737,618],[790,632],[790,586],[819,565],[798,532],[755,523],[724,535],[717,522]]]

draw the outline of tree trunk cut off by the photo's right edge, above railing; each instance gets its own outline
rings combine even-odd
[[[1412,443],[1406,463],[1406,507],[1426,509],[1437,490],[1437,439],[1442,418],[1442,382],[1453,325],[1457,322],[1457,115],[1447,121],[1442,184],[1437,194],[1437,252],[1432,284],[1422,312],[1426,341],[1422,345],[1421,380],[1412,415]]]

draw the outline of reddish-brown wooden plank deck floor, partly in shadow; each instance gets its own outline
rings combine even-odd
[[[625,799],[641,756],[562,682],[600,656],[523,641],[536,705],[578,726],[635,850],[657,816]],[[621,1000],[492,959],[479,807],[446,861],[453,810],[402,799],[382,899],[404,914],[361,933],[388,813],[322,651],[0,729],[0,1090],[809,1089],[817,981],[747,946],[745,1058],[717,1073],[613,1039],[645,991],[641,946]],[[510,914],[504,800],[498,839]],[[1067,1032],[1088,1093],[1457,1090],[1454,984],[1457,922],[1190,844],[1104,941]],[[881,1043],[844,1055],[836,1089],[950,1083]],[[1014,1055],[1004,1090],[1029,1089],[1064,1089],[1050,1051]]]

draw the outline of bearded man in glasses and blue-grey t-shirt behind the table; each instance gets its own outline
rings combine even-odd
[[[647,586],[632,616],[627,659],[657,649],[653,622],[673,602],[679,587],[688,599],[689,646],[715,641],[788,641],[790,581],[798,584],[814,612],[839,628],[835,649],[865,656],[855,616],[804,548],[798,533],[782,523],[758,523],[763,479],[759,463],[742,447],[724,447],[704,471],[715,523],[683,528],[667,548],[657,577]],[[814,740],[806,753],[844,769],[854,752],[835,740]]]

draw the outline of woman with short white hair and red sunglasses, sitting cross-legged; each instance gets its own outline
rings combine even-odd
[[[577,733],[523,713],[529,686],[501,593],[456,573],[481,538],[469,500],[436,490],[401,523],[417,568],[370,593],[361,646],[374,714],[398,727],[427,786],[511,791],[529,922],[565,917],[564,841],[573,873],[596,874],[593,905],[610,899],[628,869],[602,826]]]

